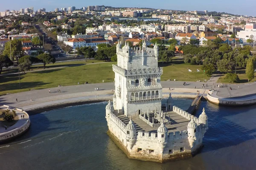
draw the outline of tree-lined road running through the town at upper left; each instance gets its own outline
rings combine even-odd
[[[39,25],[35,25],[35,28],[38,29],[38,31],[40,31],[43,35],[44,35],[44,45],[45,44],[51,44],[52,48],[51,48],[51,54],[53,57],[58,58],[58,57],[65,57],[64,53],[61,53],[56,47],[55,45],[57,45],[57,42],[54,40],[51,40],[43,30],[45,30],[45,28],[40,27]]]

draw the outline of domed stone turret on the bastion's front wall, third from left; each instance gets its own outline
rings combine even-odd
[[[160,145],[159,152],[161,154],[163,154],[164,147],[167,144],[167,137],[168,137],[167,133],[168,133],[168,129],[167,129],[166,125],[163,124],[163,120],[161,119],[161,125],[157,129],[157,142]]]

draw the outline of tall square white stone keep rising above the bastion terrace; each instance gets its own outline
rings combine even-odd
[[[158,47],[130,48],[125,42],[116,45],[117,64],[115,72],[115,110],[126,116],[161,109],[162,86],[160,76],[163,68],[158,67]]]

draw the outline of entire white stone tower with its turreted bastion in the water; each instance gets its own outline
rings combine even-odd
[[[171,94],[162,101],[158,46],[121,48],[116,45],[117,64],[113,104],[106,106],[108,135],[131,159],[165,162],[197,153],[208,129],[203,110],[199,118],[173,106]]]

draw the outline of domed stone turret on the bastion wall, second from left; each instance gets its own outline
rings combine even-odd
[[[132,149],[133,145],[136,142],[137,136],[136,136],[136,126],[134,125],[134,122],[132,121],[130,117],[129,123],[126,125],[126,141],[128,148]]]

